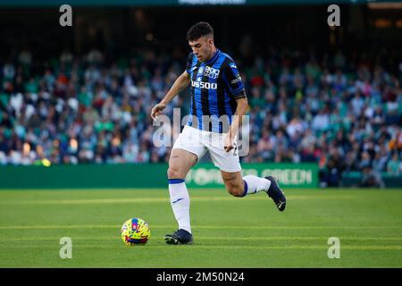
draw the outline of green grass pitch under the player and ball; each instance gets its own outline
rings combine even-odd
[[[279,212],[264,193],[233,198],[190,189],[195,244],[163,242],[177,227],[166,189],[0,191],[0,267],[402,267],[400,189],[285,189]],[[120,237],[131,217],[147,245]],[[72,258],[60,239],[70,237]],[[340,241],[340,258],[327,255]]]

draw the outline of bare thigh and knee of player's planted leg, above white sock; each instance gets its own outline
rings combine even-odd
[[[197,164],[195,154],[184,149],[174,148],[169,158],[168,177],[170,179],[183,179],[195,164]]]

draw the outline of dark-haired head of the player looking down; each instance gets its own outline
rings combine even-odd
[[[214,55],[214,29],[205,21],[200,21],[188,29],[188,45],[199,62],[208,61]]]

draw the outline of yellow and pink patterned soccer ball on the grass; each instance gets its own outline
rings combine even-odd
[[[131,218],[121,226],[121,239],[130,246],[144,245],[150,237],[148,223],[140,218]]]

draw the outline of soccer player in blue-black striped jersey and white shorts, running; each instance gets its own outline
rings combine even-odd
[[[236,136],[246,114],[247,97],[236,64],[214,46],[214,30],[207,22],[198,22],[188,29],[187,40],[192,53],[188,55],[186,71],[151,111],[155,120],[172,98],[191,84],[188,123],[172,147],[167,172],[172,210],[179,224],[178,231],[165,236],[167,244],[193,243],[184,179],[206,150],[214,165],[221,169],[222,180],[231,195],[245,197],[264,191],[280,211],[286,206],[285,195],[272,176],[242,177],[240,172]]]

